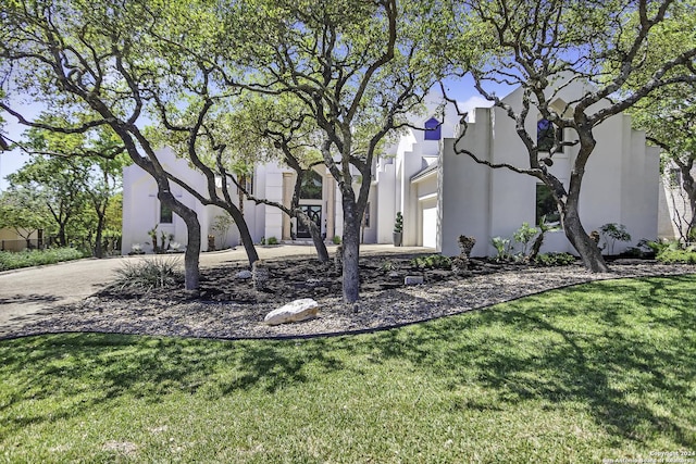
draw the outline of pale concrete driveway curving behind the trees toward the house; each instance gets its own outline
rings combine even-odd
[[[330,246],[334,254],[336,247]],[[258,247],[259,258],[272,260],[286,256],[315,256],[311,246]],[[361,254],[433,253],[420,247],[395,248],[390,244],[365,244]],[[50,266],[27,267],[0,273],[0,335],[11,331],[12,326],[26,324],[52,308],[76,303],[97,292],[114,279],[114,273],[124,262],[148,260],[152,255],[117,256],[104,260],[79,260]],[[236,250],[201,253],[201,267],[224,266],[244,262],[247,255],[243,247]]]

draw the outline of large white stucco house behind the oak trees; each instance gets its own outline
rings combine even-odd
[[[559,108],[573,101],[582,89],[567,86],[558,95]],[[521,90],[515,90],[505,101],[519,106]],[[436,127],[433,103],[432,114],[419,116],[414,124]],[[409,129],[389,147],[373,166],[370,203],[364,218],[363,241],[390,243],[397,212],[403,214],[403,244],[428,247],[446,255],[459,253],[457,238],[460,235],[476,238],[473,255],[489,255],[492,237],[510,237],[523,222],[536,224],[539,214],[554,211],[548,203],[545,187],[533,177],[507,170],[490,170],[476,164],[465,155],[455,153],[459,118],[450,110],[435,130]],[[442,117],[442,116],[438,116]],[[530,118],[530,134],[543,127],[538,120]],[[536,127],[535,127],[536,126]],[[572,134],[564,135],[568,140]],[[659,150],[645,142],[645,134],[633,130],[631,118],[617,115],[596,129],[597,146],[587,165],[581,217],[587,231],[606,223],[624,224],[634,238],[623,247],[635,246],[642,238],[658,236]],[[459,141],[480,158],[494,163],[523,163],[525,148],[514,131],[514,122],[497,108],[478,108],[470,116],[467,134]],[[550,172],[568,181],[576,147],[566,147],[554,156]],[[160,152],[167,170],[189,179],[204,191],[204,178],[192,171],[186,161],[177,159],[171,150]],[[253,195],[289,204],[295,181],[291,170],[278,164],[265,164],[256,168],[249,179]],[[175,240],[186,241],[184,223],[175,215],[162,211],[157,199],[154,181],[139,167],[124,171],[123,252],[133,243],[149,241],[147,231],[156,224]],[[335,180],[324,167],[316,168],[307,181],[301,200],[303,208],[315,218],[322,233],[331,239],[341,235],[340,193]],[[200,218],[202,234],[216,235],[212,226],[215,216],[224,214],[212,206],[200,205],[192,197],[174,188]],[[236,192],[233,197],[236,197]],[[254,241],[275,237],[289,240],[295,225],[279,210],[268,205],[244,202],[244,212]],[[307,236],[296,230],[298,238]],[[219,234],[217,234],[219,235]],[[216,247],[237,244],[234,226],[226,237],[216,236]],[[203,240],[203,250],[208,243]],[[147,247],[146,247],[147,250]],[[544,251],[573,249],[563,233],[550,234]],[[621,251],[617,247],[616,251]]]

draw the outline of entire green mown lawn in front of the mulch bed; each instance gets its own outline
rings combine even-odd
[[[352,337],[4,340],[0,461],[577,463],[694,451],[695,285],[593,283]]]

